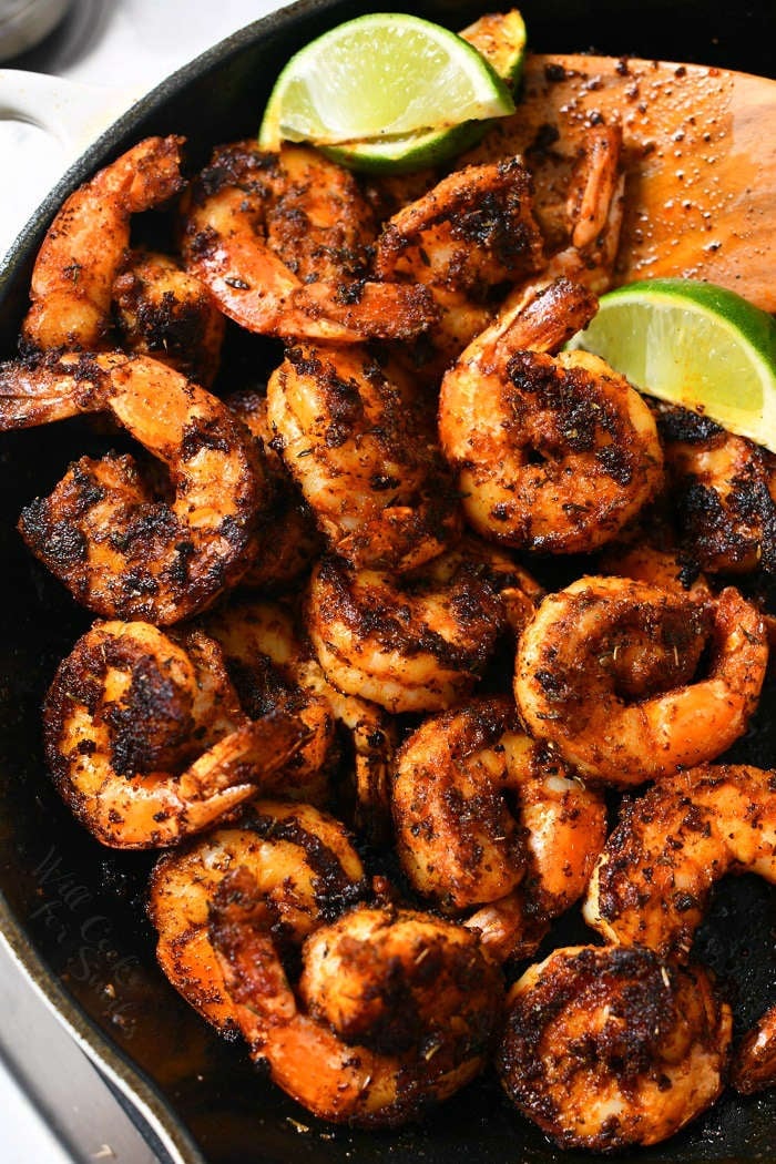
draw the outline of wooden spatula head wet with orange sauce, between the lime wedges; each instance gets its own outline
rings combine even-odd
[[[517,113],[475,152],[526,155],[551,233],[570,159],[600,120],[619,120],[624,132],[614,284],[707,279],[776,312],[776,81],[702,65],[528,55]]]

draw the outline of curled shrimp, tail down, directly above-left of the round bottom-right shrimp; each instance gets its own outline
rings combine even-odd
[[[535,951],[584,893],[606,837],[603,799],[519,731],[505,697],[423,721],[397,754],[392,801],[410,882],[444,913],[471,915],[498,960]]]

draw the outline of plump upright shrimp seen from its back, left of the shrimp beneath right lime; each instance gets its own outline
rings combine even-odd
[[[410,569],[460,533],[458,498],[420,410],[362,348],[297,346],[268,416],[332,552]]]

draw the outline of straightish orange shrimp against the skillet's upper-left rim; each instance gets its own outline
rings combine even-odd
[[[129,246],[133,214],[184,186],[183,137],[147,137],[64,203],[33,269],[22,340],[33,349],[108,347],[113,281]]]

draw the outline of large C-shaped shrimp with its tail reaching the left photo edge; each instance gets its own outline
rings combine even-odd
[[[29,549],[81,605],[169,625],[248,569],[266,480],[226,405],[148,356],[66,354],[0,365],[0,430],[107,412],[168,468],[156,499],[133,457],[81,457],[22,512]]]

